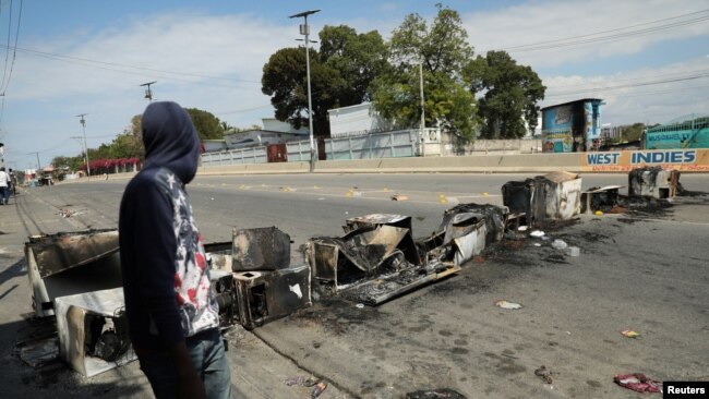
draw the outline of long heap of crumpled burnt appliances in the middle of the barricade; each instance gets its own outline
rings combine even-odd
[[[310,240],[305,257],[320,295],[377,305],[460,270],[502,239],[507,208],[465,204],[444,213],[438,229],[413,240],[411,218],[368,215],[348,219],[345,235]]]

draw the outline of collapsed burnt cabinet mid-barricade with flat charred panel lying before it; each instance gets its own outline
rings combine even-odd
[[[351,218],[345,231],[343,237],[314,238],[305,245],[313,289],[320,294],[378,305],[460,270],[453,263],[428,262],[411,237],[408,216]]]

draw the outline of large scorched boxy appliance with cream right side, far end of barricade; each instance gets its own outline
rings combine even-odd
[[[527,225],[567,220],[580,213],[581,179],[576,173],[552,172],[502,186],[503,204],[525,214]]]

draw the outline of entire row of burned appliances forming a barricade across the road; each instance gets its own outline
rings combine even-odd
[[[629,185],[630,192],[674,195],[678,173],[633,171]],[[304,261],[295,264],[287,233],[275,227],[235,229],[230,242],[205,245],[223,327],[238,323],[253,329],[327,297],[378,305],[456,274],[522,221],[566,220],[582,209],[614,206],[618,189],[581,192],[581,179],[567,172],[510,181],[502,186],[504,206],[457,205],[444,211],[433,233],[419,239],[409,216],[347,219],[341,237],[309,240]],[[25,257],[33,309],[37,318],[53,316],[58,332],[22,342],[23,360],[37,366],[53,353],[92,376],[135,359],[118,250],[117,230],[29,238]]]

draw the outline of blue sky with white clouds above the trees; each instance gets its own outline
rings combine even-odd
[[[708,0],[0,0],[5,166],[79,155],[84,134],[89,148],[111,143],[147,106],[148,82],[154,100],[261,125],[274,117],[263,65],[302,37],[289,15],[321,10],[314,39],[325,25],[388,39],[407,14],[432,22],[436,2],[460,13],[477,55],[530,65],[541,107],[602,98],[612,125],[709,113]]]

